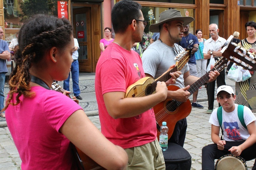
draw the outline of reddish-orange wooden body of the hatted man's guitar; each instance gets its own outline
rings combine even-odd
[[[167,86],[168,90],[176,91],[179,87],[170,85]],[[161,103],[158,103],[154,107],[156,122],[161,125],[162,122],[166,122],[169,128],[168,130],[168,140],[173,134],[175,124],[177,121],[186,118],[192,109],[189,99],[186,102],[177,102],[173,99],[166,99]],[[160,131],[157,131],[157,136],[159,137]]]

